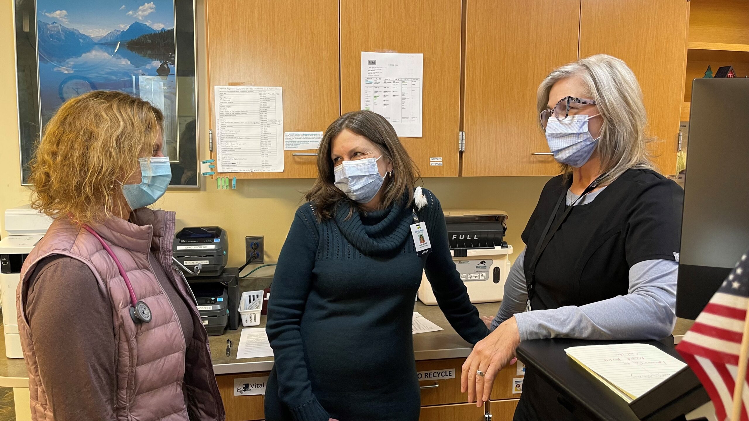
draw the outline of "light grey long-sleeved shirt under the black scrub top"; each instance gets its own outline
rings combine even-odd
[[[589,193],[577,205],[592,202],[603,189]],[[577,196],[568,192],[567,204]],[[507,276],[504,298],[491,329],[515,316],[521,340],[662,339],[676,324],[676,278],[679,264],[658,259],[640,261],[629,270],[628,294],[584,306],[526,312],[525,250]]]

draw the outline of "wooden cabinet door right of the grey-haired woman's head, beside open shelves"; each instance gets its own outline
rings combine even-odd
[[[643,89],[655,164],[676,172],[684,98],[687,0],[582,0],[580,57],[605,53],[624,60]]]

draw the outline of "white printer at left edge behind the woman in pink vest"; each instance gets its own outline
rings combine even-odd
[[[23,358],[16,313],[16,290],[21,281],[21,267],[51,223],[52,218],[28,205],[5,210],[7,237],[0,240],[0,295],[5,356],[8,358]]]

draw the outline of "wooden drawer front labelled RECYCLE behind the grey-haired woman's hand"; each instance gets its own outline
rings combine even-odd
[[[448,360],[425,360],[416,361],[417,372],[436,372],[437,378],[422,378],[419,381],[421,390],[421,405],[446,405],[466,402],[467,393],[461,393],[461,369],[463,358],[452,358]],[[438,378],[452,370],[454,378]],[[512,393],[513,378],[523,377],[516,375],[515,364],[501,370],[494,381],[494,390],[491,399],[517,399],[518,393]],[[434,377],[434,375],[433,375]]]

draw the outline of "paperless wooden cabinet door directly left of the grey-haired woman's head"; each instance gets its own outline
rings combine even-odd
[[[616,1],[616,4],[619,4]],[[577,59],[580,0],[467,0],[463,175],[555,175],[536,90]]]

